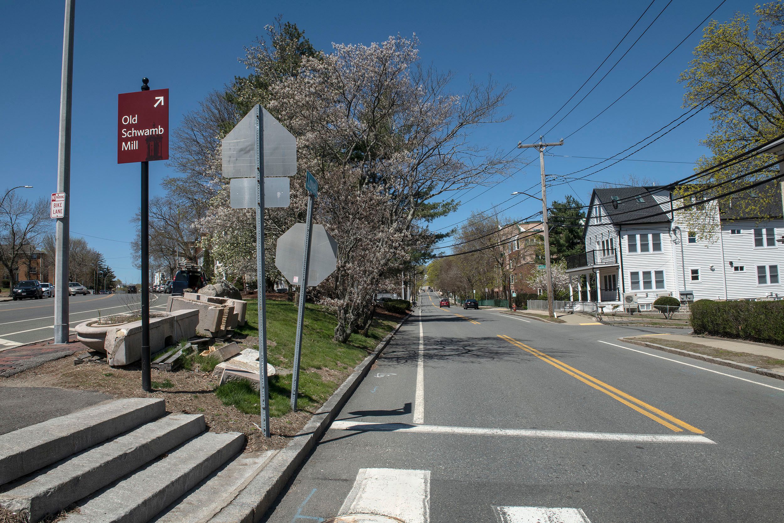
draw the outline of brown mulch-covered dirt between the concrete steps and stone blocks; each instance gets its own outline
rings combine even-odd
[[[245,345],[243,348],[252,347],[252,344],[247,342],[257,343],[252,338],[240,340],[241,346]],[[321,373],[321,370],[319,372]],[[332,372],[328,372],[329,374]],[[288,445],[289,438],[304,427],[313,416],[313,412],[300,410],[272,418],[270,419],[272,437],[267,439],[263,438],[257,427],[260,424],[259,416],[239,412],[234,406],[223,405],[223,402],[216,398],[213,390],[218,386],[218,378],[212,376],[212,373],[183,369],[165,372],[152,369],[151,380],[154,385],[156,382],[165,383],[165,388],[150,393],[141,390],[141,366],[138,364],[122,368],[91,362],[74,365],[74,358],[67,357],[0,379],[0,386],[60,387],[99,390],[118,398],[163,398],[166,400],[166,410],[169,412],[203,414],[212,432],[245,433],[248,439],[245,452],[282,449]],[[6,523],[2,515],[0,515],[0,523]]]

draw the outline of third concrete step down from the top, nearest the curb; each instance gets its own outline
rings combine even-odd
[[[67,523],[147,523],[242,450],[245,434],[206,432],[88,499]]]

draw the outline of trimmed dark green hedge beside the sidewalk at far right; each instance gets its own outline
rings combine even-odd
[[[784,301],[713,301],[691,304],[695,334],[784,345]]]

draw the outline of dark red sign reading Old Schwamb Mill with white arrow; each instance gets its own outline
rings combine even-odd
[[[117,163],[169,159],[169,89],[117,97]]]

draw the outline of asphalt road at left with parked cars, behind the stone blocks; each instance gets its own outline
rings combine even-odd
[[[73,328],[98,315],[119,314],[128,310],[126,302],[139,303],[140,294],[97,294],[70,296],[69,321]],[[151,309],[165,306],[168,295],[153,294]],[[0,350],[23,343],[48,340],[54,336],[54,298],[17,300],[0,303]]]

